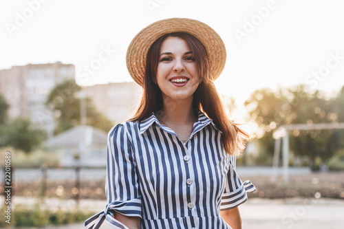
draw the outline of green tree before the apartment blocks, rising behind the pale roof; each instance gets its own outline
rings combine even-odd
[[[56,85],[50,92],[46,105],[57,116],[54,134],[61,133],[80,124],[80,98],[76,96],[80,89],[74,80],[66,80]],[[86,102],[87,124],[106,132],[109,131],[113,126],[112,122],[102,113],[96,111],[96,107],[94,107],[90,98],[86,98]]]

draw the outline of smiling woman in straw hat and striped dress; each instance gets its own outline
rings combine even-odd
[[[225,61],[219,35],[193,19],[155,22],[131,41],[127,67],[142,99],[109,132],[109,204],[86,228],[105,218],[115,228],[241,228],[237,206],[255,186],[235,173],[248,135],[213,83]]]

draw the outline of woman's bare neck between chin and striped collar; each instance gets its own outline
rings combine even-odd
[[[171,100],[171,98],[164,98],[163,100],[164,107],[162,107],[162,112],[159,114],[159,118],[163,122],[178,125],[195,122],[192,97],[186,100]]]

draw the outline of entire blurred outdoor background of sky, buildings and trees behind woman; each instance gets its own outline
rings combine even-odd
[[[237,157],[256,186],[244,228],[343,228],[343,1],[1,1],[1,211],[11,223],[82,228],[105,208],[107,132],[141,89],[125,64],[142,28],[171,17],[214,28],[227,49],[215,82],[252,135]],[[6,215],[5,215],[6,216]]]

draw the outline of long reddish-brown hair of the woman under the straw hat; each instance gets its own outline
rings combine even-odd
[[[237,124],[229,120],[226,115],[224,105],[217,93],[213,78],[210,75],[206,48],[197,38],[195,38],[195,36],[184,32],[164,34],[164,36],[157,39],[149,48],[142,85],[142,98],[136,113],[129,121],[144,120],[145,118],[149,118],[152,112],[162,109],[162,94],[156,83],[156,71],[158,69],[160,47],[162,42],[169,36],[184,39],[184,41],[188,43],[195,58],[201,81],[193,94],[193,107],[203,111],[208,118],[213,120],[216,127],[222,131],[221,140],[224,150],[230,155],[239,153],[245,147],[245,141],[248,139],[248,134],[239,129]]]

